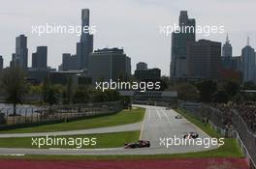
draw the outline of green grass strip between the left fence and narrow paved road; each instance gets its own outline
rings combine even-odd
[[[137,107],[132,110],[123,110],[119,113],[78,120],[68,123],[59,123],[52,125],[44,125],[38,127],[22,127],[10,130],[2,130],[0,133],[31,133],[31,132],[50,132],[50,131],[67,131],[76,129],[87,129],[96,127],[113,127],[119,125],[133,124],[143,121],[144,108]]]

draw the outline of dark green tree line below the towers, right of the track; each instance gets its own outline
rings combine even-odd
[[[167,91],[176,91],[178,99],[194,102],[227,103],[233,101],[256,101],[256,93],[245,93],[243,90],[256,90],[253,82],[240,85],[235,81],[202,80],[197,82],[172,82],[165,78]]]

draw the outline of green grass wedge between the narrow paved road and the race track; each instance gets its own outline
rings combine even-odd
[[[111,133],[99,133],[99,134],[85,134],[85,135],[69,135],[69,136],[52,136],[49,138],[65,138],[67,140],[75,140],[77,146],[74,146],[72,142],[69,145],[59,145],[59,146],[42,146],[42,149],[48,148],[82,148],[82,149],[100,149],[100,148],[116,148],[123,147],[124,143],[136,142],[139,140],[140,131],[125,131],[125,132],[111,132]],[[34,137],[35,138],[45,138],[46,137]],[[96,145],[91,145],[94,142],[91,141],[92,138],[96,138]],[[82,145],[83,139],[86,140],[86,145]],[[44,140],[45,141],[45,140]],[[43,144],[43,139],[41,141]],[[46,143],[46,141],[45,141]],[[60,143],[60,141],[59,141]],[[64,143],[64,142],[63,142]],[[87,145],[89,144],[89,145]],[[32,146],[31,137],[21,137],[21,138],[0,138],[0,148],[33,148],[38,149],[38,145]]]

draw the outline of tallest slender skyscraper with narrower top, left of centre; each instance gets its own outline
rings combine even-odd
[[[81,26],[82,29],[88,29],[90,25],[90,12],[89,9],[81,10]],[[81,32],[80,42],[77,43],[77,57],[79,70],[88,69],[89,53],[93,51],[93,35],[86,32]]]

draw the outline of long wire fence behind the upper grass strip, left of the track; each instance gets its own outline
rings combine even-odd
[[[121,101],[74,105],[0,107],[0,129],[10,126],[65,122],[75,119],[104,116],[122,110]]]

